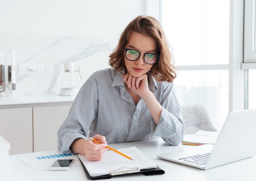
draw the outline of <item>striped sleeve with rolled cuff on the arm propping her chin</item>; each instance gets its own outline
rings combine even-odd
[[[166,143],[179,145],[183,141],[185,127],[181,118],[181,109],[173,89],[173,83],[166,83],[161,95],[162,106],[158,124],[151,117],[151,133],[161,137]]]

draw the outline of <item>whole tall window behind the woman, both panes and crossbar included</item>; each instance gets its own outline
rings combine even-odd
[[[181,105],[206,107],[217,129],[228,114],[228,0],[162,0],[162,26],[179,68]]]

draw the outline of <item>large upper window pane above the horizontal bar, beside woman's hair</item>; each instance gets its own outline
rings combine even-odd
[[[163,0],[162,22],[178,66],[228,64],[229,1]]]

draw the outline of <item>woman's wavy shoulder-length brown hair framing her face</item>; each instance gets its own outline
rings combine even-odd
[[[151,72],[157,81],[173,82],[176,77],[176,68],[171,61],[171,52],[166,40],[163,28],[157,19],[152,16],[138,16],[133,19],[124,29],[122,35],[113,53],[109,55],[109,65],[120,71],[125,67],[124,64],[124,46],[129,40],[129,35],[132,32],[137,32],[142,35],[147,35],[157,43],[157,51],[160,55],[157,63],[153,64]]]

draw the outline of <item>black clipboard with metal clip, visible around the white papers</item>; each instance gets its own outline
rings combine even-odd
[[[78,157],[79,158],[79,157]],[[165,171],[162,170],[161,168],[159,168],[157,166],[157,168],[149,168],[149,169],[139,169],[139,168],[128,168],[128,170],[122,170],[122,168],[118,169],[118,170],[113,170],[111,171],[110,174],[108,175],[100,175],[100,176],[90,176],[87,169],[85,168],[85,165],[83,164],[82,160],[79,158],[82,166],[83,166],[83,170],[85,171],[85,174],[87,176],[88,179],[91,180],[99,180],[99,179],[109,179],[112,178],[113,176],[121,176],[121,175],[127,175],[127,174],[136,174],[136,173],[141,173],[145,176],[149,176],[149,175],[161,175],[164,174]]]

